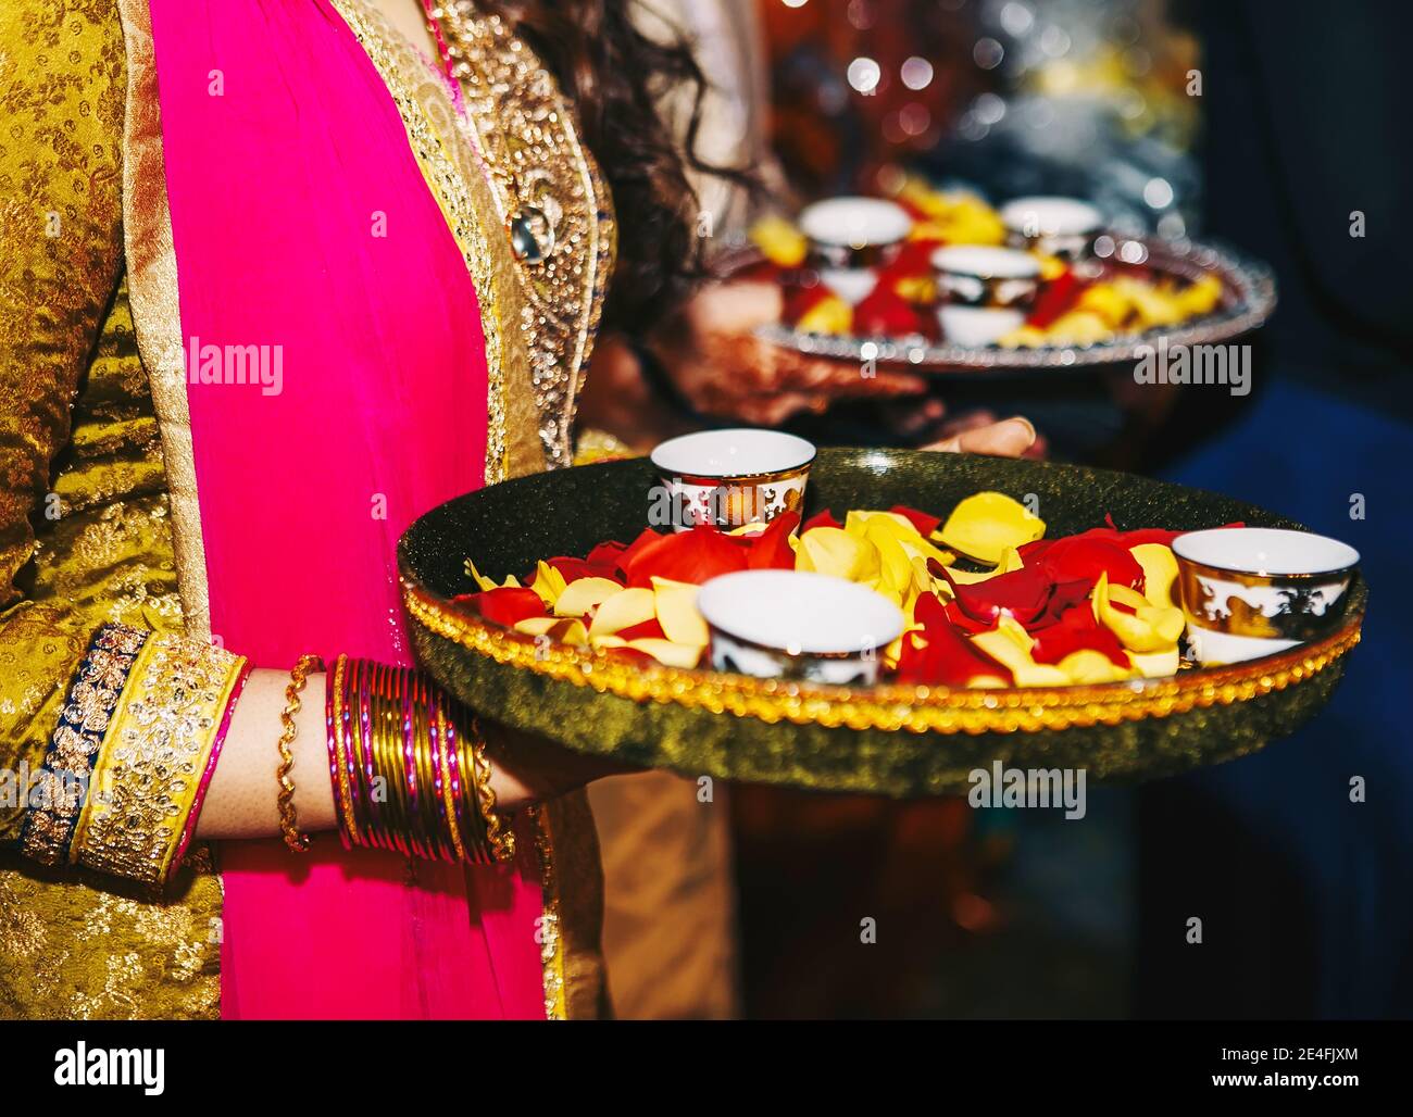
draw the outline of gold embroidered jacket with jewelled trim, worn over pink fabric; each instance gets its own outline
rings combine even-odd
[[[572,113],[465,0],[441,20],[465,117],[374,8],[336,4],[473,261],[487,480],[568,465],[613,254]],[[161,158],[146,0],[0,7],[0,1017],[219,1015],[219,873],[178,861],[243,661],[209,641]],[[547,1011],[588,1014],[582,796],[540,837]]]

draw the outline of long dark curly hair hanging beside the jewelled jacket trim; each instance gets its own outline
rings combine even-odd
[[[702,274],[697,196],[687,167],[755,189],[743,168],[697,155],[705,79],[684,41],[658,42],[629,16],[640,0],[502,0],[510,21],[578,110],[584,141],[617,210],[617,264],[603,308],[605,329],[639,332]],[[668,90],[690,90],[684,131],[663,114]]]

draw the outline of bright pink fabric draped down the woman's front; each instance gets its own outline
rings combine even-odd
[[[485,473],[461,251],[328,0],[151,16],[188,366],[267,347],[246,350],[264,386],[229,383],[232,359],[225,383],[188,367],[212,631],[257,667],[407,664],[397,538]],[[273,795],[274,727],[270,747]],[[331,835],[307,857],[225,843],[222,1014],[543,1018],[538,866],[520,846],[516,866],[468,871]]]

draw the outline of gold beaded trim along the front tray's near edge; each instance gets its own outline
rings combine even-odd
[[[403,600],[415,623],[497,664],[634,702],[675,703],[767,723],[972,734],[1115,726],[1249,702],[1324,671],[1359,643],[1364,620],[1362,616],[1351,617],[1334,635],[1279,655],[1184,671],[1169,679],[1094,686],[950,689],[894,685],[853,691],[660,665],[643,668],[606,652],[537,645],[530,637],[449,609],[406,571]]]

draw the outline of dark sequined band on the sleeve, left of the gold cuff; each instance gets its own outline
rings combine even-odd
[[[34,787],[25,788],[31,804],[20,836],[25,857],[41,864],[68,861],[95,758],[114,724],[113,713],[146,640],[146,630],[126,624],[103,624],[93,633],[73,672],[44,765]]]

